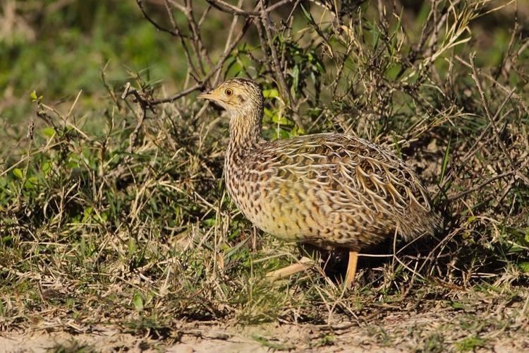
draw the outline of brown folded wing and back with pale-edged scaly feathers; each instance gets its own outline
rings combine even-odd
[[[321,133],[264,143],[256,154],[260,169],[289,190],[320,191],[332,198],[324,206],[348,212],[358,207],[376,213],[405,213],[411,205],[430,211],[417,175],[393,152],[362,138]],[[323,200],[327,201],[327,200]]]

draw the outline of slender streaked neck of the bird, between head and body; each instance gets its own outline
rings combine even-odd
[[[262,141],[262,105],[247,111],[234,112],[230,120],[229,148],[234,151],[248,151]]]

